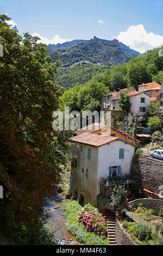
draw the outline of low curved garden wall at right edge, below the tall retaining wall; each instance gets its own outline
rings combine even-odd
[[[158,215],[160,211],[160,206],[163,206],[163,200],[161,199],[147,199],[147,198],[141,198],[141,199],[136,199],[131,202],[129,202],[129,205],[138,205],[142,203],[143,206],[147,207],[148,209],[153,209],[154,215]]]

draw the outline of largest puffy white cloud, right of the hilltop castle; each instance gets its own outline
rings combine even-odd
[[[117,39],[130,48],[143,53],[163,44],[163,36],[147,33],[143,25],[130,26],[127,31],[121,32]]]

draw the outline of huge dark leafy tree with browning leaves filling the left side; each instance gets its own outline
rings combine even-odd
[[[22,39],[9,20],[0,16],[0,203],[32,228],[43,198],[55,193],[64,159],[52,129],[61,89],[54,83],[58,63],[46,56],[47,47],[28,33]]]

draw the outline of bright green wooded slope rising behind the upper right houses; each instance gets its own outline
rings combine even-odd
[[[155,48],[131,59],[128,63],[105,68],[103,72],[93,75],[84,86],[82,83],[81,85],[77,84],[61,97],[61,107],[70,106],[70,110],[78,111],[99,110],[101,96],[109,93],[110,90],[127,87],[137,89],[140,84],[152,82],[152,80],[161,83],[163,81],[163,58],[159,57],[159,50],[160,48]],[[84,70],[85,67],[83,65],[82,69]],[[77,74],[78,68],[76,67],[73,69],[73,77],[77,77],[76,81],[79,82]],[[88,77],[85,76],[85,78]],[[60,77],[60,84],[64,86],[62,77]],[[69,84],[69,86],[71,85]]]

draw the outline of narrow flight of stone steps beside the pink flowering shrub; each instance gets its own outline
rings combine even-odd
[[[108,230],[109,245],[116,245],[116,240],[115,240],[115,218],[114,217],[107,217],[106,218],[106,227],[107,227],[107,230]]]

